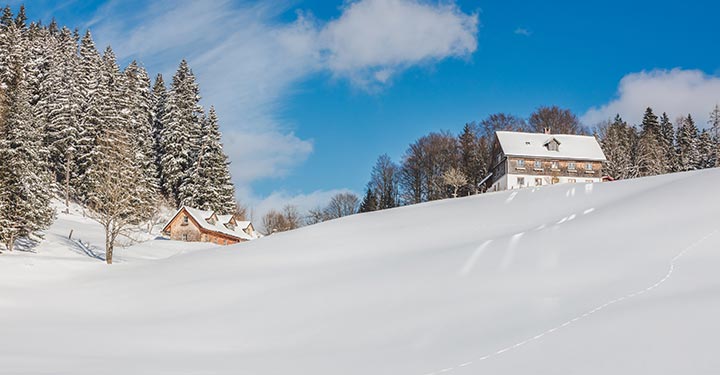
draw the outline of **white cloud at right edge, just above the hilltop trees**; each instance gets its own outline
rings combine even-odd
[[[625,121],[638,124],[645,108],[652,107],[656,114],[667,112],[672,120],[690,113],[699,127],[705,127],[717,103],[720,103],[720,77],[700,70],[656,69],[623,77],[617,97],[589,109],[581,120],[594,125],[619,113]]]

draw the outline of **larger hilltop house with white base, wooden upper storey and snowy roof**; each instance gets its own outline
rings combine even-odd
[[[489,191],[601,182],[606,161],[592,136],[495,132]]]

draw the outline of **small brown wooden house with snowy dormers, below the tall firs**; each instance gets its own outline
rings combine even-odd
[[[234,215],[218,215],[191,207],[182,207],[165,225],[163,234],[176,241],[212,242],[232,245],[260,237],[249,221]]]

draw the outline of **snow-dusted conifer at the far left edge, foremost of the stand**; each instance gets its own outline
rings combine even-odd
[[[53,219],[47,152],[34,123],[24,66],[22,60],[10,66],[15,79],[7,86],[0,123],[0,241],[10,251],[18,238],[38,235]]]

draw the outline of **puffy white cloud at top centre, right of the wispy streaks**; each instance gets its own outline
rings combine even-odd
[[[322,28],[319,44],[334,74],[361,85],[371,78],[384,83],[407,66],[472,54],[477,27],[477,15],[452,3],[364,0]]]

